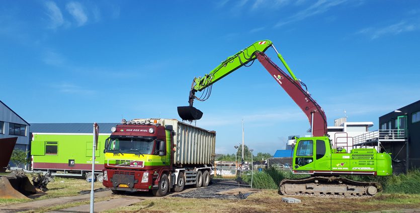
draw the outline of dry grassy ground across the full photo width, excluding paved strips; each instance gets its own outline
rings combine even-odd
[[[90,183],[83,179],[57,178],[54,183],[48,185],[50,190],[34,200],[43,200],[54,197],[79,195],[80,190],[89,190]],[[95,183],[95,188],[103,187],[101,183]],[[419,194],[378,194],[370,198],[345,198],[345,197],[314,197],[314,196],[293,196],[301,199],[301,203],[282,202],[277,190],[260,190],[249,194],[245,199],[235,199],[232,195],[215,195],[223,190],[233,189],[236,186],[213,184],[206,188],[186,187],[185,194],[170,194],[161,198],[144,199],[150,193],[129,193],[125,195],[107,195],[97,201],[112,200],[121,197],[138,199],[137,203],[108,209],[102,212],[368,212],[385,209],[407,209],[420,208]],[[195,191],[196,190],[196,191]],[[204,197],[195,198],[197,194]],[[194,196],[191,196],[194,195]],[[14,203],[27,202],[29,200],[0,199],[0,212],[2,206]],[[62,208],[87,204],[89,199],[78,203],[66,203],[62,206],[49,206],[48,208],[36,208],[30,212],[45,212]]]

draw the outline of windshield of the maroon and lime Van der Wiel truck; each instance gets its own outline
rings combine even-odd
[[[109,152],[151,154],[154,140],[144,138],[110,138]]]

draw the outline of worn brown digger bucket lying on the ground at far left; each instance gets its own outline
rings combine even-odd
[[[27,198],[35,194],[36,188],[24,172],[12,172],[9,176],[0,177],[0,198]]]

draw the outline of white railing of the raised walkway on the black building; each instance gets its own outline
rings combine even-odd
[[[407,139],[404,129],[379,129],[354,137],[354,145],[378,141],[404,141]]]

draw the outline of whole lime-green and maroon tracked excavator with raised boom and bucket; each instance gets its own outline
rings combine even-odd
[[[265,54],[272,47],[287,69],[286,74]],[[293,148],[292,172],[307,174],[300,179],[284,179],[280,182],[279,193],[283,195],[341,195],[373,196],[381,186],[377,182],[361,182],[340,175],[392,175],[391,156],[379,153],[375,148],[355,148],[345,143],[331,142],[327,134],[326,116],[322,108],[312,99],[306,85],[297,79],[282,55],[269,40],[253,45],[228,57],[204,77],[194,78],[189,95],[189,106],[178,107],[183,120],[201,119],[203,112],[193,106],[194,100],[205,101],[210,97],[214,83],[242,66],[248,67],[258,60],[274,80],[295,101],[308,118],[311,137],[296,139]],[[203,92],[197,97],[196,92]]]

